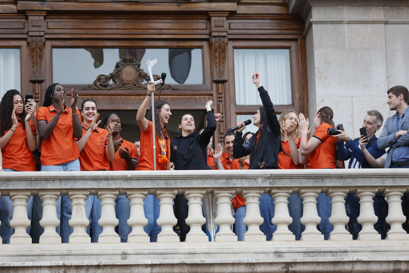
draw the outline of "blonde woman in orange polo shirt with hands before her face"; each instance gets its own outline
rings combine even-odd
[[[279,169],[304,169],[307,156],[299,152],[301,134],[298,128],[298,113],[294,110],[286,110],[279,117],[281,129],[281,146],[283,151],[279,153]],[[298,194],[291,194],[288,198],[288,212],[292,217],[292,223],[288,228],[299,240],[303,225],[301,217],[303,213],[302,199]]]

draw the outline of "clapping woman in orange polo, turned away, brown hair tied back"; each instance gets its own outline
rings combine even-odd
[[[315,133],[308,140],[310,124],[302,113],[299,115],[299,128],[301,132],[300,151],[301,155],[308,156],[307,169],[335,169],[335,149],[337,138],[328,135],[328,128],[335,128],[333,122],[334,113],[328,106],[322,107],[314,117]],[[318,214],[321,223],[318,225],[324,238],[328,239],[333,226],[328,218],[331,216],[330,198],[326,194],[319,194]]]

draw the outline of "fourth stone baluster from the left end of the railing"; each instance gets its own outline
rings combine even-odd
[[[99,190],[98,199],[101,200],[101,218],[98,220],[102,232],[98,237],[98,243],[120,243],[121,238],[115,232],[119,220],[115,215],[115,200],[118,197],[118,191]]]

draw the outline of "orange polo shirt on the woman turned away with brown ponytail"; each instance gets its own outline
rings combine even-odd
[[[321,123],[315,130],[313,138],[321,142],[317,149],[308,155],[307,169],[335,169],[335,149],[337,138],[328,135],[327,129],[332,128],[328,123]]]

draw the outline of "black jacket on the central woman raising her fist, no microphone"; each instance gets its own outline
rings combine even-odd
[[[207,169],[207,144],[216,131],[216,118],[212,111],[206,113],[207,127],[199,134],[191,133],[171,140],[171,162],[176,170]]]

